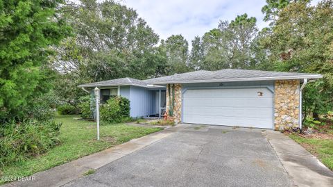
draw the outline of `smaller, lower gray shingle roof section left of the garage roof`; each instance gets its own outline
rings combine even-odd
[[[101,82],[96,82],[96,83],[87,83],[87,84],[82,84],[78,87],[96,87],[96,86],[140,86],[140,87],[145,87],[145,88],[158,88],[161,86],[147,86],[147,83],[144,81],[138,80],[138,79],[133,79],[133,78],[121,78],[121,79],[112,79],[108,81],[101,81]]]

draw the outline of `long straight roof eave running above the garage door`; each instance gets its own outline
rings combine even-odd
[[[216,82],[238,82],[238,81],[277,81],[277,80],[295,80],[295,79],[321,79],[323,75],[305,75],[305,76],[272,76],[272,77],[252,77],[252,78],[236,78],[236,79],[207,79],[194,81],[156,81],[152,84],[168,84],[168,83],[216,83]]]

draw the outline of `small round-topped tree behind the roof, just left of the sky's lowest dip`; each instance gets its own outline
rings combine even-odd
[[[188,72],[189,43],[187,40],[182,35],[171,35],[164,44],[169,67],[168,74]]]

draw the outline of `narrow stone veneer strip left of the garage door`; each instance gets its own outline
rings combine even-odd
[[[167,85],[167,107],[166,112],[168,115],[168,120],[173,120],[176,124],[182,121],[182,86],[181,84],[171,84],[174,86],[175,89],[175,105],[173,106],[173,116],[169,116],[169,108],[170,108],[170,97],[169,97],[169,84]],[[171,91],[172,97],[172,91]]]

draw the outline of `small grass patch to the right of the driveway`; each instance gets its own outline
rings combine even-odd
[[[318,138],[303,138],[297,134],[290,134],[290,138],[305,147],[311,154],[314,154],[327,166],[333,170],[333,140]]]

